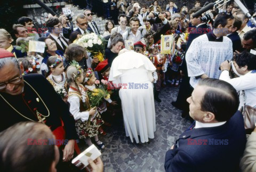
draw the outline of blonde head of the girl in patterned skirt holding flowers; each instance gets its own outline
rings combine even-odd
[[[84,71],[78,63],[71,64],[66,71],[66,75],[69,85],[74,84],[77,86],[84,81]]]

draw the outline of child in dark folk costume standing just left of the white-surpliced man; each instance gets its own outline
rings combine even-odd
[[[175,50],[174,55],[170,59],[170,71],[171,71],[171,86],[179,86],[180,83],[180,66],[183,62],[185,56],[186,44],[177,45],[177,50]]]

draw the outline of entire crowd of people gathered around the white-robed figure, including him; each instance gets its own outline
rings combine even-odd
[[[172,1],[164,8],[157,1],[106,1],[102,33],[86,2],[74,16],[76,28],[66,15],[49,14],[41,31],[29,17],[12,23],[13,36],[0,29],[0,104],[7,117],[0,125],[1,171],[76,171],[70,165],[81,152],[76,140],[103,150],[108,143],[99,135],[120,119],[131,142],[149,142],[166,86],[179,87],[171,104],[192,123],[166,152],[166,171],[256,170],[256,29],[237,4],[194,15],[199,1],[191,9]],[[169,53],[163,35],[173,38]],[[30,51],[33,41],[45,45],[43,53]],[[27,145],[29,138],[68,144]],[[89,163],[103,171],[100,158]]]

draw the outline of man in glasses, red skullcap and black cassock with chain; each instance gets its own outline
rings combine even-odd
[[[0,132],[20,121],[42,122],[55,133],[56,139],[68,139],[68,144],[62,145],[61,159],[71,160],[78,137],[68,105],[43,75],[22,76],[23,71],[22,63],[13,54],[0,48],[0,107],[6,116],[0,122]]]

